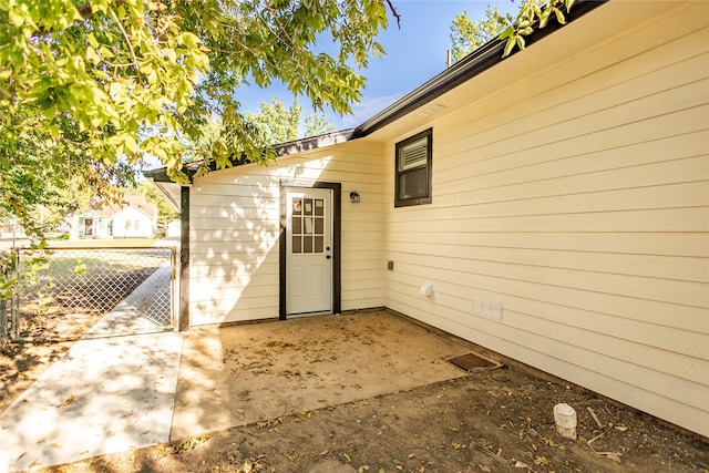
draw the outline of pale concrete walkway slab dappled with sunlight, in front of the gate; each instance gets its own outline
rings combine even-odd
[[[166,442],[182,338],[78,341],[0,415],[0,472]]]

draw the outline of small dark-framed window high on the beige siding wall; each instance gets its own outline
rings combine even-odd
[[[397,143],[394,207],[431,203],[433,128]]]

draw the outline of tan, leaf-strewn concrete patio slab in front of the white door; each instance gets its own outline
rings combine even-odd
[[[171,439],[460,378],[444,358],[466,351],[387,311],[195,329],[185,337]]]

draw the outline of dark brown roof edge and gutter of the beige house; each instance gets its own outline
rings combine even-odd
[[[571,22],[577,18],[580,18],[589,11],[606,3],[607,1],[609,0],[577,0],[576,3],[574,3],[572,10],[566,14],[566,21]],[[563,24],[558,23],[554,19],[549,20],[548,24],[545,28],[537,29],[534,33],[525,37],[526,47],[528,48],[541,39],[559,30],[562,27]],[[296,140],[288,143],[281,143],[274,146],[276,155],[284,156],[300,153],[302,151],[315,150],[318,147],[367,136],[376,132],[377,130],[380,130],[388,124],[393,123],[397,120],[408,115],[409,113],[435,100],[436,97],[443,95],[444,93],[451,91],[460,84],[486,71],[487,69],[499,64],[505,59],[503,58],[504,47],[505,41],[493,39],[462,60],[458,61],[445,71],[438,74],[435,78],[431,79],[430,81],[417,88],[409,94],[404,95],[402,99],[398,100],[371,119],[367,120],[356,128]],[[515,49],[515,51],[511,55],[517,53],[520,53],[520,51]],[[240,165],[245,163],[245,161],[236,161],[234,162],[234,165]],[[197,172],[197,169],[199,169],[202,165],[203,162],[185,164],[183,167],[183,172],[185,172],[185,174],[187,174],[187,176],[192,178],[192,176]],[[213,168],[212,171],[215,171],[215,168]],[[153,181],[155,182],[172,182],[172,179],[167,176],[165,167],[143,171],[143,175],[145,177],[153,178]]]

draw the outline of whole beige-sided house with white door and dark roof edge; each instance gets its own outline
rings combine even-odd
[[[709,435],[709,2],[568,20],[268,167],[146,173],[181,327],[387,307]]]

